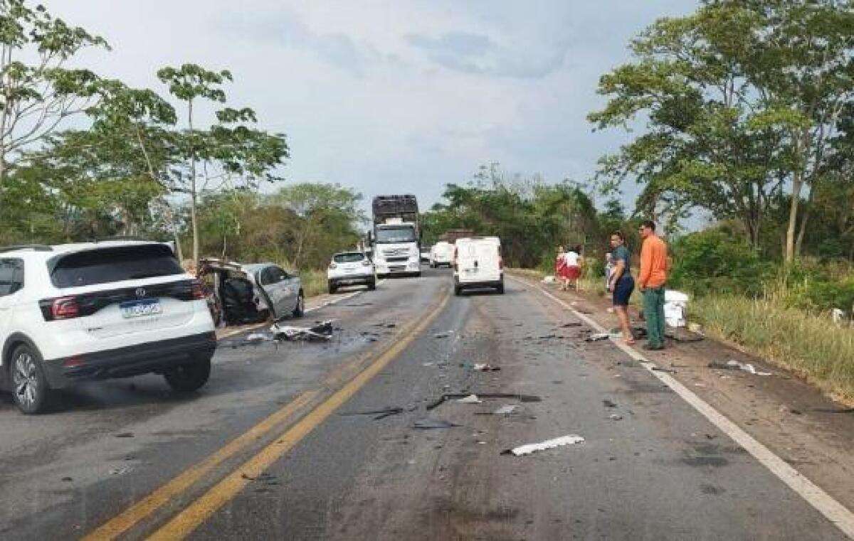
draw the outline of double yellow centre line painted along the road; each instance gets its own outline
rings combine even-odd
[[[306,416],[302,417],[299,422],[296,422],[295,425],[285,430],[272,444],[267,445],[254,457],[243,462],[239,468],[232,471],[231,474],[226,475],[225,479],[220,480],[208,492],[205,492],[202,497],[190,503],[178,515],[175,515],[172,520],[154,532],[149,539],[182,539],[193,532],[208,517],[213,515],[217,509],[237,496],[237,493],[243,490],[249,484],[250,480],[254,479],[254,477],[271,466],[273,462],[284,456],[301,439],[305,438],[308,433],[324,422],[342,404],[347,402],[349,398],[352,398],[368,381],[371,381],[371,378],[399,356],[419,334],[423,333],[430,326],[430,323],[436,319],[445,305],[447,305],[449,299],[450,294],[446,289],[442,301],[426,317],[412,323],[407,329],[403,329],[399,334],[398,340],[374,359],[366,369],[348,381],[341,389],[332,393],[329,398],[326,398]],[[266,437],[274,428],[297,415],[307,404],[311,404],[314,399],[319,398],[320,393],[321,390],[319,389],[302,393],[290,402],[290,404],[285,405],[281,410],[266,417],[246,433],[243,433],[236,439],[232,439],[225,447],[214,452],[210,457],[186,469],[178,477],[167,482],[166,485],[151,492],[149,496],[144,497],[102,526],[99,526],[96,530],[86,535],[83,541],[111,540],[128,532],[132,527],[137,526],[137,524],[150,515],[153,515],[157,510],[162,509],[168,503],[173,502],[175,498],[180,497],[184,492],[190,490],[196,482],[202,480],[205,475],[212,473],[225,460],[234,457],[239,451],[243,451],[252,443]]]

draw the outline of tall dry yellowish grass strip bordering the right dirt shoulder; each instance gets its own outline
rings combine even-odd
[[[791,369],[845,402],[854,400],[854,330],[774,300],[735,295],[693,300],[688,311],[706,334]]]

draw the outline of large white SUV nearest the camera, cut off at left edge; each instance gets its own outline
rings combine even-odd
[[[73,381],[161,374],[189,392],[216,348],[202,283],[160,242],[0,249],[0,383],[24,413]]]

